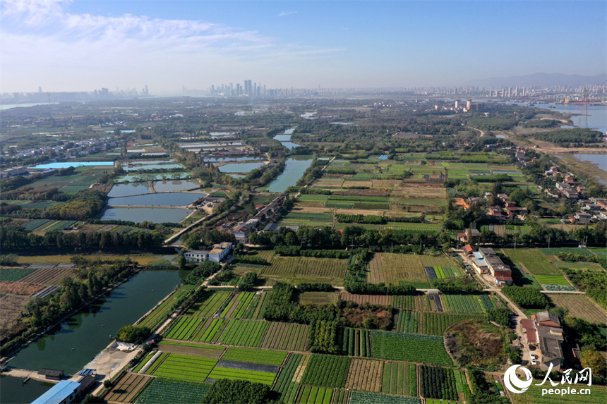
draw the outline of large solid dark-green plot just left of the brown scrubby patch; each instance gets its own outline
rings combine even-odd
[[[373,357],[387,360],[404,360],[435,365],[452,365],[445,350],[443,337],[421,334],[371,331]]]

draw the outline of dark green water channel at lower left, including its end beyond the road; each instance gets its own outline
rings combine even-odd
[[[140,271],[131,279],[57,325],[47,334],[20,350],[8,361],[9,367],[37,371],[42,367],[75,374],[112,342],[121,326],[133,324],[179,284],[179,271]],[[16,384],[18,381],[18,384]],[[40,396],[45,385],[30,380],[0,379],[1,403],[30,403],[30,395]],[[51,386],[46,386],[50,388]],[[14,395],[14,396],[13,396]]]

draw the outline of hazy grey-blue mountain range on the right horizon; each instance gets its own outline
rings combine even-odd
[[[511,77],[488,78],[485,80],[474,80],[469,83],[478,87],[529,87],[539,85],[541,87],[553,87],[555,85],[570,85],[580,87],[583,85],[607,85],[607,73],[598,75],[578,75],[560,73],[535,73],[528,75],[513,75]]]

